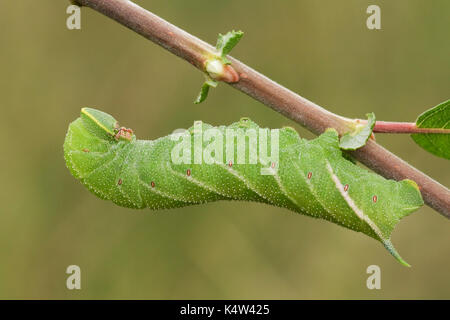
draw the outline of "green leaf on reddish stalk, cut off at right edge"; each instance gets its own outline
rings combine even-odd
[[[416,121],[418,128],[450,129],[450,100],[422,113]],[[450,134],[415,133],[411,138],[428,152],[450,160]]]

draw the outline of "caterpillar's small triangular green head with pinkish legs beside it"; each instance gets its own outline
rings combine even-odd
[[[81,109],[81,120],[91,133],[101,139],[131,141],[134,135],[133,130],[120,127],[113,116],[93,108]]]

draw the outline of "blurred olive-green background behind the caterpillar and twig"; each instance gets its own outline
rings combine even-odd
[[[243,30],[233,56],[347,117],[414,121],[450,97],[447,0],[137,3],[210,43]],[[366,28],[370,4],[381,7],[380,31]],[[148,139],[242,116],[313,136],[225,84],[192,104],[199,71],[91,9],[69,31],[67,6],[0,2],[0,298],[450,298],[450,223],[428,207],[393,235],[408,269],[362,234],[285,209],[218,202],[134,211],[89,193],[62,150],[83,106]],[[448,161],[408,136],[377,141],[450,185]],[[81,267],[82,290],[66,289],[71,264]],[[381,267],[381,290],[366,288],[371,264]]]

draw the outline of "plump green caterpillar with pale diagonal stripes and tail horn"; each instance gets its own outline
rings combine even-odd
[[[219,134],[210,139],[211,164],[198,161],[202,156],[196,150],[198,129],[215,129]],[[231,138],[226,135],[230,130],[236,132]],[[264,148],[267,151],[278,143],[279,160],[270,162],[252,140],[255,135],[262,139],[264,130],[268,129],[241,119],[228,127],[197,123],[178,139],[169,135],[137,140],[132,130],[119,127],[112,116],[83,108],[81,117],[69,126],[64,157],[73,176],[98,197],[119,206],[167,209],[218,200],[258,201],[362,232],[408,266],[390,236],[401,218],[423,205],[415,182],[386,180],[347,160],[334,129],[314,140],[300,138],[292,128],[279,129]],[[219,141],[220,134],[228,139]],[[187,146],[180,158],[193,156],[193,163],[173,160],[180,137]],[[249,142],[242,147],[234,143],[239,139]],[[229,158],[228,143],[238,158],[239,151],[245,152],[248,163]],[[260,154],[251,159],[257,149]]]

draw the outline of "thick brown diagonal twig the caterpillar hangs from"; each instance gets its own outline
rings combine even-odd
[[[215,48],[190,35],[153,13],[127,0],[77,0],[111,19],[123,24],[145,38],[204,70],[206,59],[215,55]],[[327,128],[339,133],[351,129],[350,119],[331,113],[315,103],[275,83],[242,62],[228,57],[240,80],[230,84],[264,103],[286,117],[298,122],[315,134]],[[353,155],[366,166],[388,179],[412,179],[420,187],[425,202],[450,218],[450,190],[402,159],[390,153],[373,140]]]

